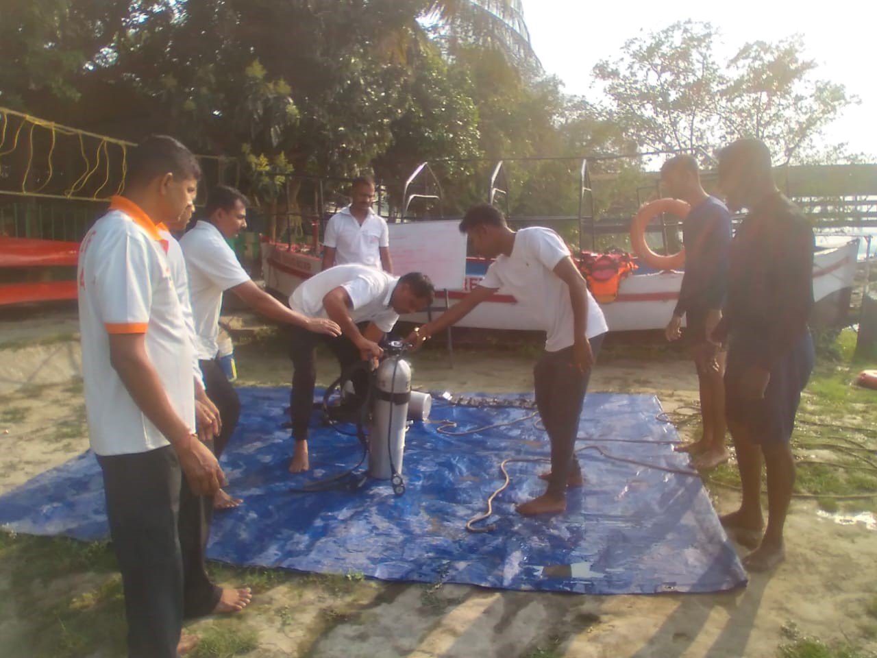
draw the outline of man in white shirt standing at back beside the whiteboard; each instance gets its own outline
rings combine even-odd
[[[360,263],[393,274],[387,220],[372,210],[374,181],[368,176],[354,178],[350,197],[350,205],[332,215],[326,225],[323,269]]]

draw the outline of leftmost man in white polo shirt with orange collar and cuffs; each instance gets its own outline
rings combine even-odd
[[[184,617],[250,600],[249,590],[220,590],[206,578],[193,539],[200,529],[184,512],[225,478],[196,434],[191,337],[156,223],[180,216],[199,176],[175,139],[146,139],[128,156],[125,196],[113,197],[80,248],[89,440],[103,472],[132,658],[176,658]]]

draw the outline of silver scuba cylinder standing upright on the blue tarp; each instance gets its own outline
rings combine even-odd
[[[408,361],[398,354],[381,361],[374,375],[374,387],[368,475],[378,480],[389,480],[396,474],[402,474],[411,397],[411,367]]]

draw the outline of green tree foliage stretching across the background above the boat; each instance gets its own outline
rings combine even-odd
[[[670,25],[595,67],[610,97],[601,106],[542,72],[522,0],[9,0],[3,11],[0,105],[125,139],[167,132],[236,158],[233,182],[273,236],[303,235],[300,218],[317,211],[314,190],[289,174],[374,173],[401,214],[404,182],[430,161],[443,204],[411,213],[454,216],[488,199],[504,159],[496,203],[510,217],[575,217],[587,155],[594,191],[581,211],[616,222],[653,187],[650,162],[618,154],[710,151],[754,134],[778,161],[845,157],[816,153],[813,140],[852,99],[816,79],[797,39],[722,61],[717,29]],[[569,160],[510,161],[557,156]],[[324,192],[341,203],[346,185]],[[575,222],[553,226],[579,240]]]

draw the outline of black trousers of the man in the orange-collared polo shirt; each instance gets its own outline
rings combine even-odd
[[[204,547],[212,500],[196,497],[174,448],[97,456],[113,551],[125,590],[130,658],[176,658],[182,620],[209,614]]]

